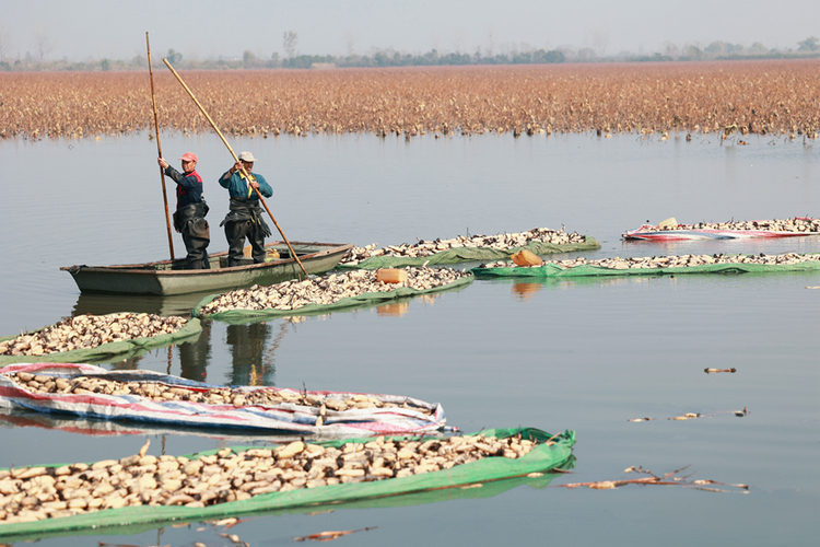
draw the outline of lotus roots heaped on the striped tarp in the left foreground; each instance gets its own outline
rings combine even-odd
[[[5,374],[26,389],[35,393],[52,394],[106,394],[106,395],[139,395],[149,399],[187,400],[210,405],[282,405],[317,407],[319,416],[325,416],[327,409],[342,412],[355,408],[412,408],[427,415],[432,408],[412,404],[411,399],[402,405],[378,400],[364,394],[352,395],[348,398],[341,395],[318,395],[278,388],[236,388],[236,387],[186,387],[171,386],[161,382],[119,382],[104,377],[74,376],[62,377],[30,372],[11,372]]]

